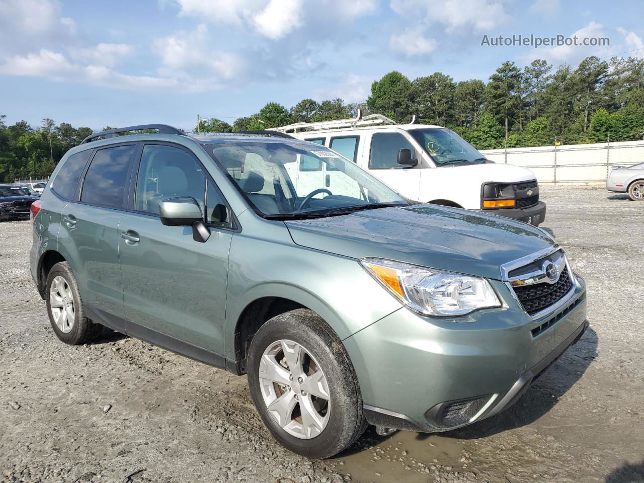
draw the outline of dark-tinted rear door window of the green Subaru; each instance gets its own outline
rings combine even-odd
[[[82,185],[81,201],[120,209],[135,146],[106,147],[96,151]]]

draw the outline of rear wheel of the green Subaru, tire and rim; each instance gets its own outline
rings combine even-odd
[[[47,275],[46,303],[53,332],[66,344],[86,344],[102,326],[85,316],[76,279],[66,261],[56,263]]]

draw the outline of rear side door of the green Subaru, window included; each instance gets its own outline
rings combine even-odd
[[[61,212],[59,249],[70,263],[84,305],[108,322],[111,317],[106,314],[123,315],[118,223],[126,207],[136,151],[133,143],[97,149],[81,180],[79,196]],[[63,187],[64,180],[57,176],[52,191]],[[124,330],[118,321],[114,325]]]

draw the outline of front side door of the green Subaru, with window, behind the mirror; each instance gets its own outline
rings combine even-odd
[[[137,171],[118,227],[128,334],[222,365],[229,207],[185,147],[146,143]],[[191,227],[161,223],[160,202],[175,196],[191,196],[202,208],[211,230],[205,243],[193,240]]]

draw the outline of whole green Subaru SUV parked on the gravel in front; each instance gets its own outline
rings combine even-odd
[[[158,132],[127,135],[144,129]],[[588,327],[585,283],[546,232],[406,200],[276,132],[91,135],[32,222],[32,276],[61,341],[106,326],[248,374],[267,428],[307,457],[367,424],[491,417]]]

